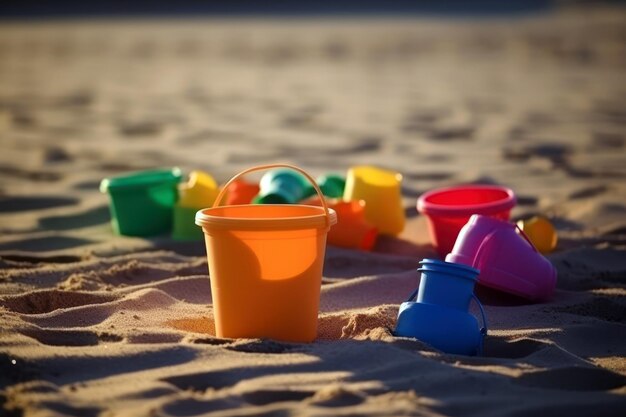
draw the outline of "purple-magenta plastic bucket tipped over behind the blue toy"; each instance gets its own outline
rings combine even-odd
[[[556,269],[516,229],[507,221],[473,215],[446,261],[479,269],[481,285],[533,301],[549,298],[556,286]]]

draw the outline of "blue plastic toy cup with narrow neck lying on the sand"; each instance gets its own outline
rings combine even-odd
[[[485,312],[474,295],[479,271],[465,265],[424,259],[419,288],[398,311],[396,336],[412,337],[452,354],[480,355],[487,334]],[[417,295],[417,301],[412,301]],[[483,326],[469,313],[478,304]]]

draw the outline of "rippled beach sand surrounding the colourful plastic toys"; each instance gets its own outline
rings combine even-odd
[[[2,23],[2,414],[625,415],[625,19]],[[404,175],[401,236],[327,248],[311,344],[215,337],[204,245],[114,236],[98,191],[267,162]],[[464,182],[560,234],[552,299],[478,290],[484,357],[391,334],[416,198]]]

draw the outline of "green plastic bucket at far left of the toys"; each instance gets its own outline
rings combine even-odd
[[[169,233],[180,178],[180,169],[171,168],[103,179],[100,191],[109,194],[115,233],[125,236]]]

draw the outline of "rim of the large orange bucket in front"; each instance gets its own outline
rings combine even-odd
[[[271,210],[276,207],[306,208],[318,214],[304,216],[283,216],[268,218],[241,218],[212,215],[211,212],[220,210],[245,210],[255,207],[259,210]],[[337,223],[337,213],[328,209],[328,218],[323,207],[306,204],[241,204],[231,206],[217,206],[204,208],[196,212],[195,223],[203,229],[209,230],[298,230],[298,229],[327,229]]]

